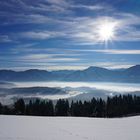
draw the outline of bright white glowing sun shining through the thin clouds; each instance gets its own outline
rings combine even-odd
[[[104,21],[98,26],[97,34],[100,41],[108,42],[115,38],[116,23]]]

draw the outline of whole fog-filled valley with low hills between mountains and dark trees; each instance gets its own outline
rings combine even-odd
[[[140,95],[138,83],[107,82],[0,82],[0,102],[10,104],[17,98],[90,100],[119,94]]]

